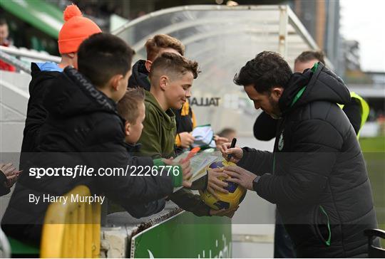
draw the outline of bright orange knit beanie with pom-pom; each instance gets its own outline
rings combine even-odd
[[[93,35],[101,33],[101,28],[89,18],[83,17],[78,6],[71,4],[63,12],[64,24],[58,35],[61,54],[78,52],[81,43]]]

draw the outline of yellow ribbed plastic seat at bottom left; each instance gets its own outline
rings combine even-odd
[[[65,196],[91,196],[76,186]],[[51,203],[44,218],[41,258],[98,258],[101,243],[100,203]]]

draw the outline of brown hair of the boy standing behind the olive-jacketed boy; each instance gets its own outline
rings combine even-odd
[[[158,55],[160,48],[173,48],[178,51],[180,55],[185,55],[185,46],[178,38],[173,38],[166,34],[157,34],[153,38],[148,39],[145,43],[145,50],[147,51],[147,60],[153,61]]]

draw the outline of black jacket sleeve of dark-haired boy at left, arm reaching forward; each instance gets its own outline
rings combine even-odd
[[[105,118],[98,122],[88,139],[96,143],[89,146],[93,152],[86,153],[86,161],[93,168],[123,168],[125,173],[119,176],[96,176],[98,191],[106,194],[108,199],[130,209],[137,204],[164,199],[173,193],[172,176],[167,174],[138,176],[138,158],[132,158],[123,144],[123,130],[116,127],[116,118]],[[96,152],[103,150],[105,152]],[[111,151],[111,152],[106,152]],[[146,159],[148,166],[153,166],[151,159]],[[145,160],[141,159],[141,163]],[[141,164],[142,166],[145,164]],[[143,171],[144,174],[144,171]],[[130,211],[128,211],[130,213]],[[135,212],[134,212],[135,213]]]

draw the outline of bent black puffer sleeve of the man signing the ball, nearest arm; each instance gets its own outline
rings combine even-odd
[[[344,142],[337,129],[321,120],[299,123],[292,139],[293,152],[282,154],[289,162],[284,174],[263,174],[257,182],[257,194],[271,203],[317,201]]]

